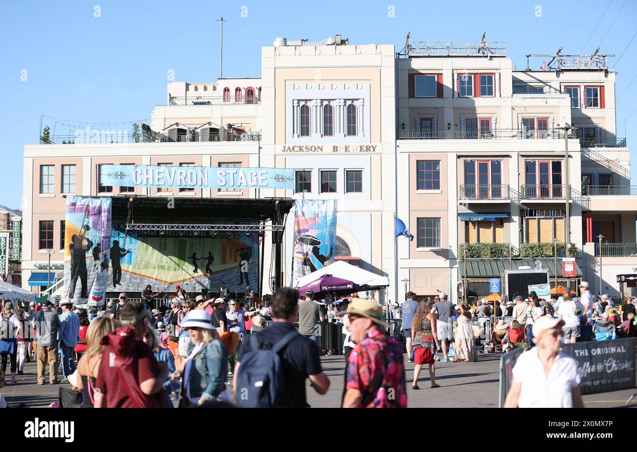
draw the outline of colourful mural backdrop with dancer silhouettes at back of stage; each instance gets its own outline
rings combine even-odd
[[[111,233],[109,291],[217,292],[222,282],[241,293],[250,284],[257,291],[259,237],[257,233],[217,233],[214,237],[167,237],[126,231],[113,225]],[[192,233],[190,233],[192,234]]]

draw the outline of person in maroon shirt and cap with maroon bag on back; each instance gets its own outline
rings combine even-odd
[[[148,314],[141,302],[126,303],[120,312],[123,326],[102,338],[106,349],[95,382],[96,408],[164,407],[168,365],[157,363],[152,349],[143,342]]]

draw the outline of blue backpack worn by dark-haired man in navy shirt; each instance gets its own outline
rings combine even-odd
[[[256,344],[243,354],[237,372],[236,404],[240,408],[276,407],[285,387],[280,352],[298,335],[289,332],[273,345],[261,340],[259,333],[252,333],[250,340]]]

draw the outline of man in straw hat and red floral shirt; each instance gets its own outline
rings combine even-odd
[[[347,308],[352,350],[347,365],[343,408],[405,408],[403,350],[387,337],[382,308],[362,298],[353,298]]]

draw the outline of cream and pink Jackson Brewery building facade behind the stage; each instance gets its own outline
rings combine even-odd
[[[277,39],[262,48],[261,78],[169,82],[166,105],[129,139],[98,131],[96,142],[25,146],[23,286],[49,253],[62,263],[64,195],[288,196],[337,200],[334,255],[387,275],[389,300],[487,295],[514,265],[555,277],[562,254],[578,273],[567,281],[558,263],[558,281],[598,291],[600,253],[601,289],[619,296],[614,274],[637,272],[637,187],[615,133],[615,73],[600,57],[513,71],[499,43],[396,54],[340,36]],[[101,164],[291,168],[296,190],[109,187]],[[394,240],[394,215],[415,240]],[[285,284],[293,230],[289,215]],[[270,259],[266,247],[265,268]]]

